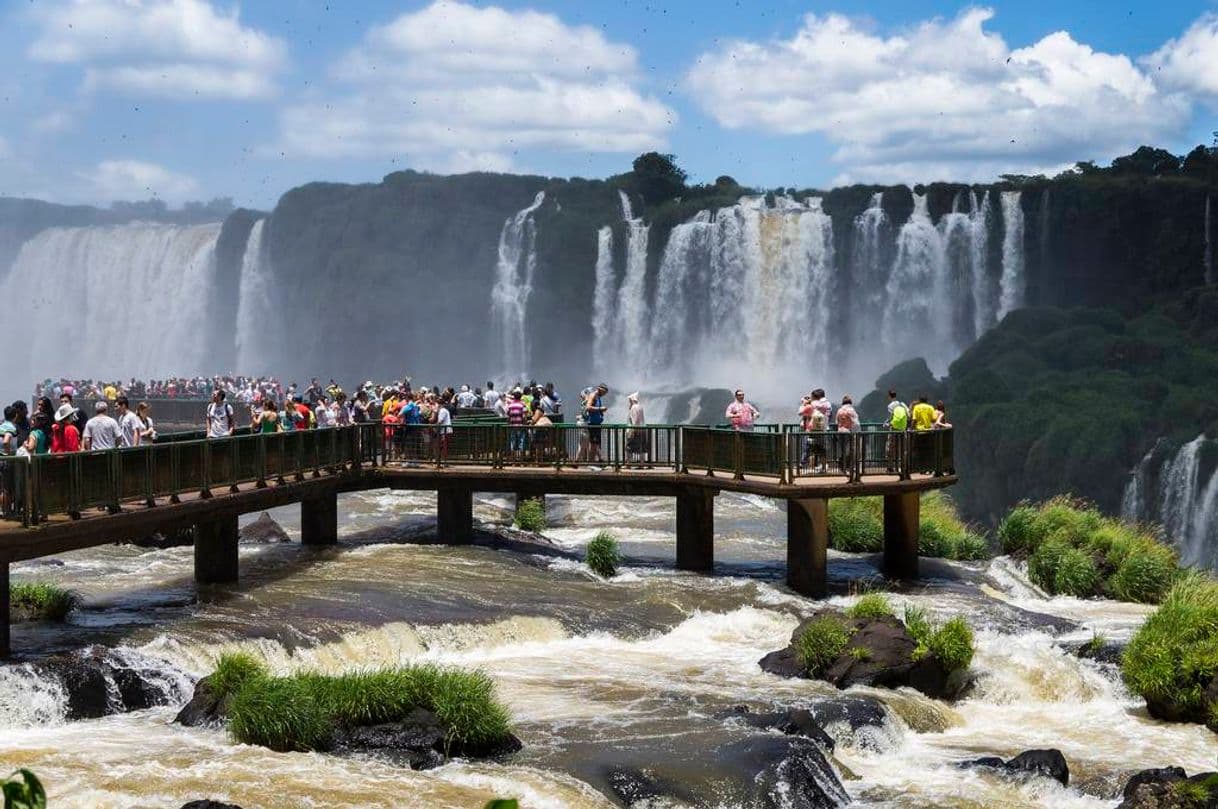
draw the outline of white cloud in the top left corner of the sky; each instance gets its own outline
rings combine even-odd
[[[86,90],[173,99],[259,99],[275,93],[283,40],[207,0],[66,0],[32,12],[28,56],[82,65]]]

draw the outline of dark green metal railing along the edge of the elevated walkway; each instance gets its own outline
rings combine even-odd
[[[955,474],[954,431],[743,431],[699,425],[513,426],[503,423],[407,425],[368,422],[139,447],[0,458],[0,517],[35,525],[51,514],[118,512],[124,502],[211,497],[242,484],[304,480],[386,463],[610,468],[731,474],[793,485],[808,478],[859,482],[870,475]]]

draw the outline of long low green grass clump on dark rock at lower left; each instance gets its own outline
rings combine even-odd
[[[236,686],[229,731],[273,751],[324,751],[336,727],[401,721],[415,708],[438,718],[448,748],[493,746],[510,733],[508,712],[486,674],[435,665],[247,676]]]

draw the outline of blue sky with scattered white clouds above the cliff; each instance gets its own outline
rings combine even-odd
[[[0,196],[404,168],[984,182],[1218,129],[1218,0],[0,0]]]

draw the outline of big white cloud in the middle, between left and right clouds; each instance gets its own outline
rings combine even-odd
[[[509,168],[518,149],[644,151],[675,113],[638,88],[637,62],[553,15],[436,1],[370,29],[324,97],[283,112],[279,147],[441,169]]]

